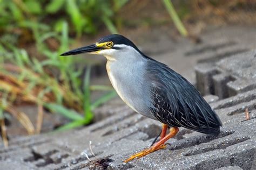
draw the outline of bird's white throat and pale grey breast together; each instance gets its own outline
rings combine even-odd
[[[151,96],[145,96],[149,93],[144,93],[144,89],[149,89],[145,87],[144,80],[147,60],[133,47],[116,46],[121,49],[102,53],[107,58],[106,69],[112,86],[130,108],[139,114],[149,116]],[[149,101],[145,101],[145,98]]]

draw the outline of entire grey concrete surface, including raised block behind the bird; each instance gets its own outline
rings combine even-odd
[[[211,36],[215,34],[211,32]],[[207,36],[211,37],[210,33],[203,38],[207,40]],[[215,38],[218,41],[224,37]],[[177,136],[167,141],[170,145],[166,150],[124,164],[129,155],[150,146],[161,124],[134,113],[117,98],[97,109],[102,121],[86,128],[11,140],[9,148],[1,144],[0,169],[256,169],[256,51],[241,45],[248,52],[241,48],[241,53],[235,55],[242,41],[236,39],[234,44],[226,40],[227,45],[218,46],[219,42],[204,41],[198,46],[184,46],[172,52],[184,59],[180,65],[183,68],[179,68],[178,61],[166,59],[207,95],[206,100],[223,122],[218,136],[180,128]],[[232,51],[234,55],[224,56]],[[164,54],[157,59],[164,60]],[[246,108],[251,117],[248,121]],[[90,151],[90,141],[96,156]]]

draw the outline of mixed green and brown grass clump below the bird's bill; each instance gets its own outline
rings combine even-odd
[[[90,65],[87,65],[84,83],[81,81],[82,68],[75,67],[75,58],[60,56],[68,49],[68,24],[63,22],[62,33],[48,32],[39,34],[39,26],[32,24],[36,46],[46,59],[39,61],[30,57],[24,49],[19,49],[7,41],[0,46],[0,121],[3,125],[4,112],[8,111],[24,125],[29,134],[35,128],[29,118],[14,109],[17,101],[34,103],[63,115],[71,123],[60,130],[75,128],[92,121],[92,111],[100,104],[116,96],[114,90],[105,86],[90,86]],[[60,42],[57,51],[51,51],[44,43],[46,39],[55,38]],[[9,49],[9,50],[7,50]],[[86,63],[85,63],[86,64]],[[55,69],[58,77],[49,70]],[[91,101],[91,90],[109,91],[98,100]],[[81,113],[84,113],[81,115]],[[38,113],[39,114],[39,113]],[[3,131],[2,131],[3,132]],[[4,134],[2,134],[4,136]]]

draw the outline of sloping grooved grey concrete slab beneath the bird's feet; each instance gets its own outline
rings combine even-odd
[[[111,159],[109,168],[113,169],[213,169],[227,166],[250,169],[256,145],[256,119],[253,118],[256,115],[256,110],[255,108],[250,109],[253,119],[249,121],[245,121],[242,110],[235,114],[230,114],[229,111],[241,109],[243,105],[241,103],[246,100],[250,102],[252,97],[250,94],[255,94],[255,90],[226,98],[223,102],[224,105],[221,100],[212,103],[224,123],[218,136],[181,129],[180,132],[183,135],[179,139],[170,139],[168,142],[171,145],[166,150],[151,153],[127,164],[122,161],[130,154],[149,147],[152,138],[157,136],[160,131],[158,122],[143,118],[130,110],[118,112],[118,114],[88,128],[73,130],[72,133],[44,134],[41,138],[48,140],[38,145],[30,146],[31,138],[23,140],[23,149],[18,146],[16,150],[9,148],[9,150],[5,150],[5,154],[9,154],[9,159],[19,161],[22,165],[32,168],[88,168],[89,165],[92,166],[92,163],[87,160],[85,156],[87,154],[92,161],[103,158]],[[238,100],[239,98],[243,98],[243,100]],[[39,141],[38,137],[33,139],[33,142],[36,141]],[[96,157],[93,157],[90,152],[90,141],[92,141],[92,150]],[[13,144],[15,145],[14,142]],[[18,152],[22,155],[17,154]],[[5,157],[7,158],[7,156]]]

